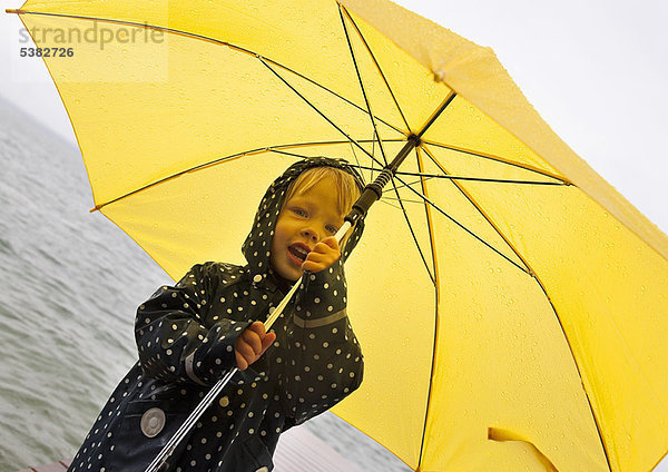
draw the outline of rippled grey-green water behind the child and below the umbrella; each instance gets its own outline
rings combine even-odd
[[[171,282],[90,207],[78,149],[0,100],[1,471],[75,454],[135,363],[137,305]],[[361,470],[409,471],[332,414],[303,427]]]

